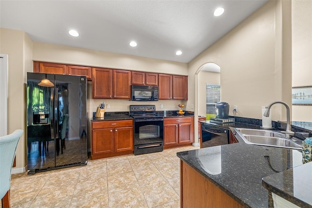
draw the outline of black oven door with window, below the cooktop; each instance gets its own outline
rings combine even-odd
[[[134,143],[138,145],[149,145],[164,141],[163,119],[138,118],[135,119]]]

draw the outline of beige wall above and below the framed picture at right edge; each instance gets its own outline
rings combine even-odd
[[[292,0],[292,86],[312,86],[311,0]],[[312,122],[312,105],[293,105],[292,120]]]

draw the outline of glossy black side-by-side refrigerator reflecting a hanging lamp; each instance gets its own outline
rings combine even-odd
[[[87,79],[27,73],[28,174],[86,165]]]

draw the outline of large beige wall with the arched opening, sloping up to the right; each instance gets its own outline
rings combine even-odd
[[[273,101],[291,104],[291,67],[284,60],[291,54],[287,45],[291,25],[282,27],[287,20],[281,19],[281,11],[290,15],[289,5],[283,4],[269,1],[192,60],[190,85],[198,83],[196,73],[202,64],[215,62],[221,67],[221,98],[230,104],[230,114],[237,105],[237,116],[261,119],[262,106]],[[189,102],[197,102],[197,92],[189,87]],[[273,105],[272,119],[286,120],[285,107]]]

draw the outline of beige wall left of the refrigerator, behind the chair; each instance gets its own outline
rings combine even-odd
[[[32,41],[23,31],[0,28],[0,53],[9,57],[8,133],[23,129],[12,173],[25,171],[25,84],[26,72],[32,71]]]

